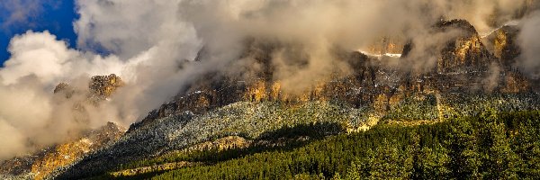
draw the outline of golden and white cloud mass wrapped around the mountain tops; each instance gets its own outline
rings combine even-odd
[[[521,18],[516,14],[527,2],[80,0],[76,49],[48,31],[27,31],[11,40],[11,58],[0,69],[0,146],[8,147],[0,159],[62,142],[106,121],[129,126],[208,72],[257,68],[248,57],[240,58],[247,39],[282,44],[272,54],[275,80],[284,90],[302,91],[332,72],[347,74],[350,67],[332,56],[336,47],[363,49],[389,35],[415,39],[410,66],[428,68],[435,55],[427,49],[455,36],[432,31],[441,18],[466,19],[478,31],[491,31]],[[537,39],[536,17],[526,16],[522,37]],[[532,54],[537,50],[529,49],[538,49],[539,40],[522,41],[527,45],[523,62],[540,66]],[[202,47],[208,55],[195,62]],[[296,58],[305,65],[294,63]],[[60,82],[85,89],[91,76],[109,74],[121,76],[126,85],[110,101],[85,105],[88,121],[74,120],[71,110],[84,95],[52,94]]]

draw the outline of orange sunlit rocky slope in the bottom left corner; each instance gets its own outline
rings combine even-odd
[[[88,153],[119,139],[125,129],[108,122],[96,130],[89,130],[81,138],[69,140],[25,157],[15,157],[0,164],[0,177],[48,178],[58,168],[68,166]]]

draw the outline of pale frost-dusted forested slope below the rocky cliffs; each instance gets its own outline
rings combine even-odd
[[[260,139],[268,131],[319,122],[358,127],[365,123],[366,108],[354,108],[345,103],[309,102],[284,104],[275,102],[231,103],[224,107],[193,114],[178,114],[157,119],[125,134],[111,146],[85,157],[84,161],[59,171],[59,179],[103,175],[152,155],[163,155],[198,143],[227,136]],[[93,163],[100,166],[94,166]]]

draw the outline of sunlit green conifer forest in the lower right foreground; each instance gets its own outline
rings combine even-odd
[[[539,131],[540,112],[484,112],[432,125],[381,125],[153,178],[535,179],[540,176]],[[220,156],[225,155],[202,157]]]

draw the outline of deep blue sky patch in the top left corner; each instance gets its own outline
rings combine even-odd
[[[75,0],[0,0],[0,65],[10,57],[9,40],[25,31],[50,31],[76,47]]]

